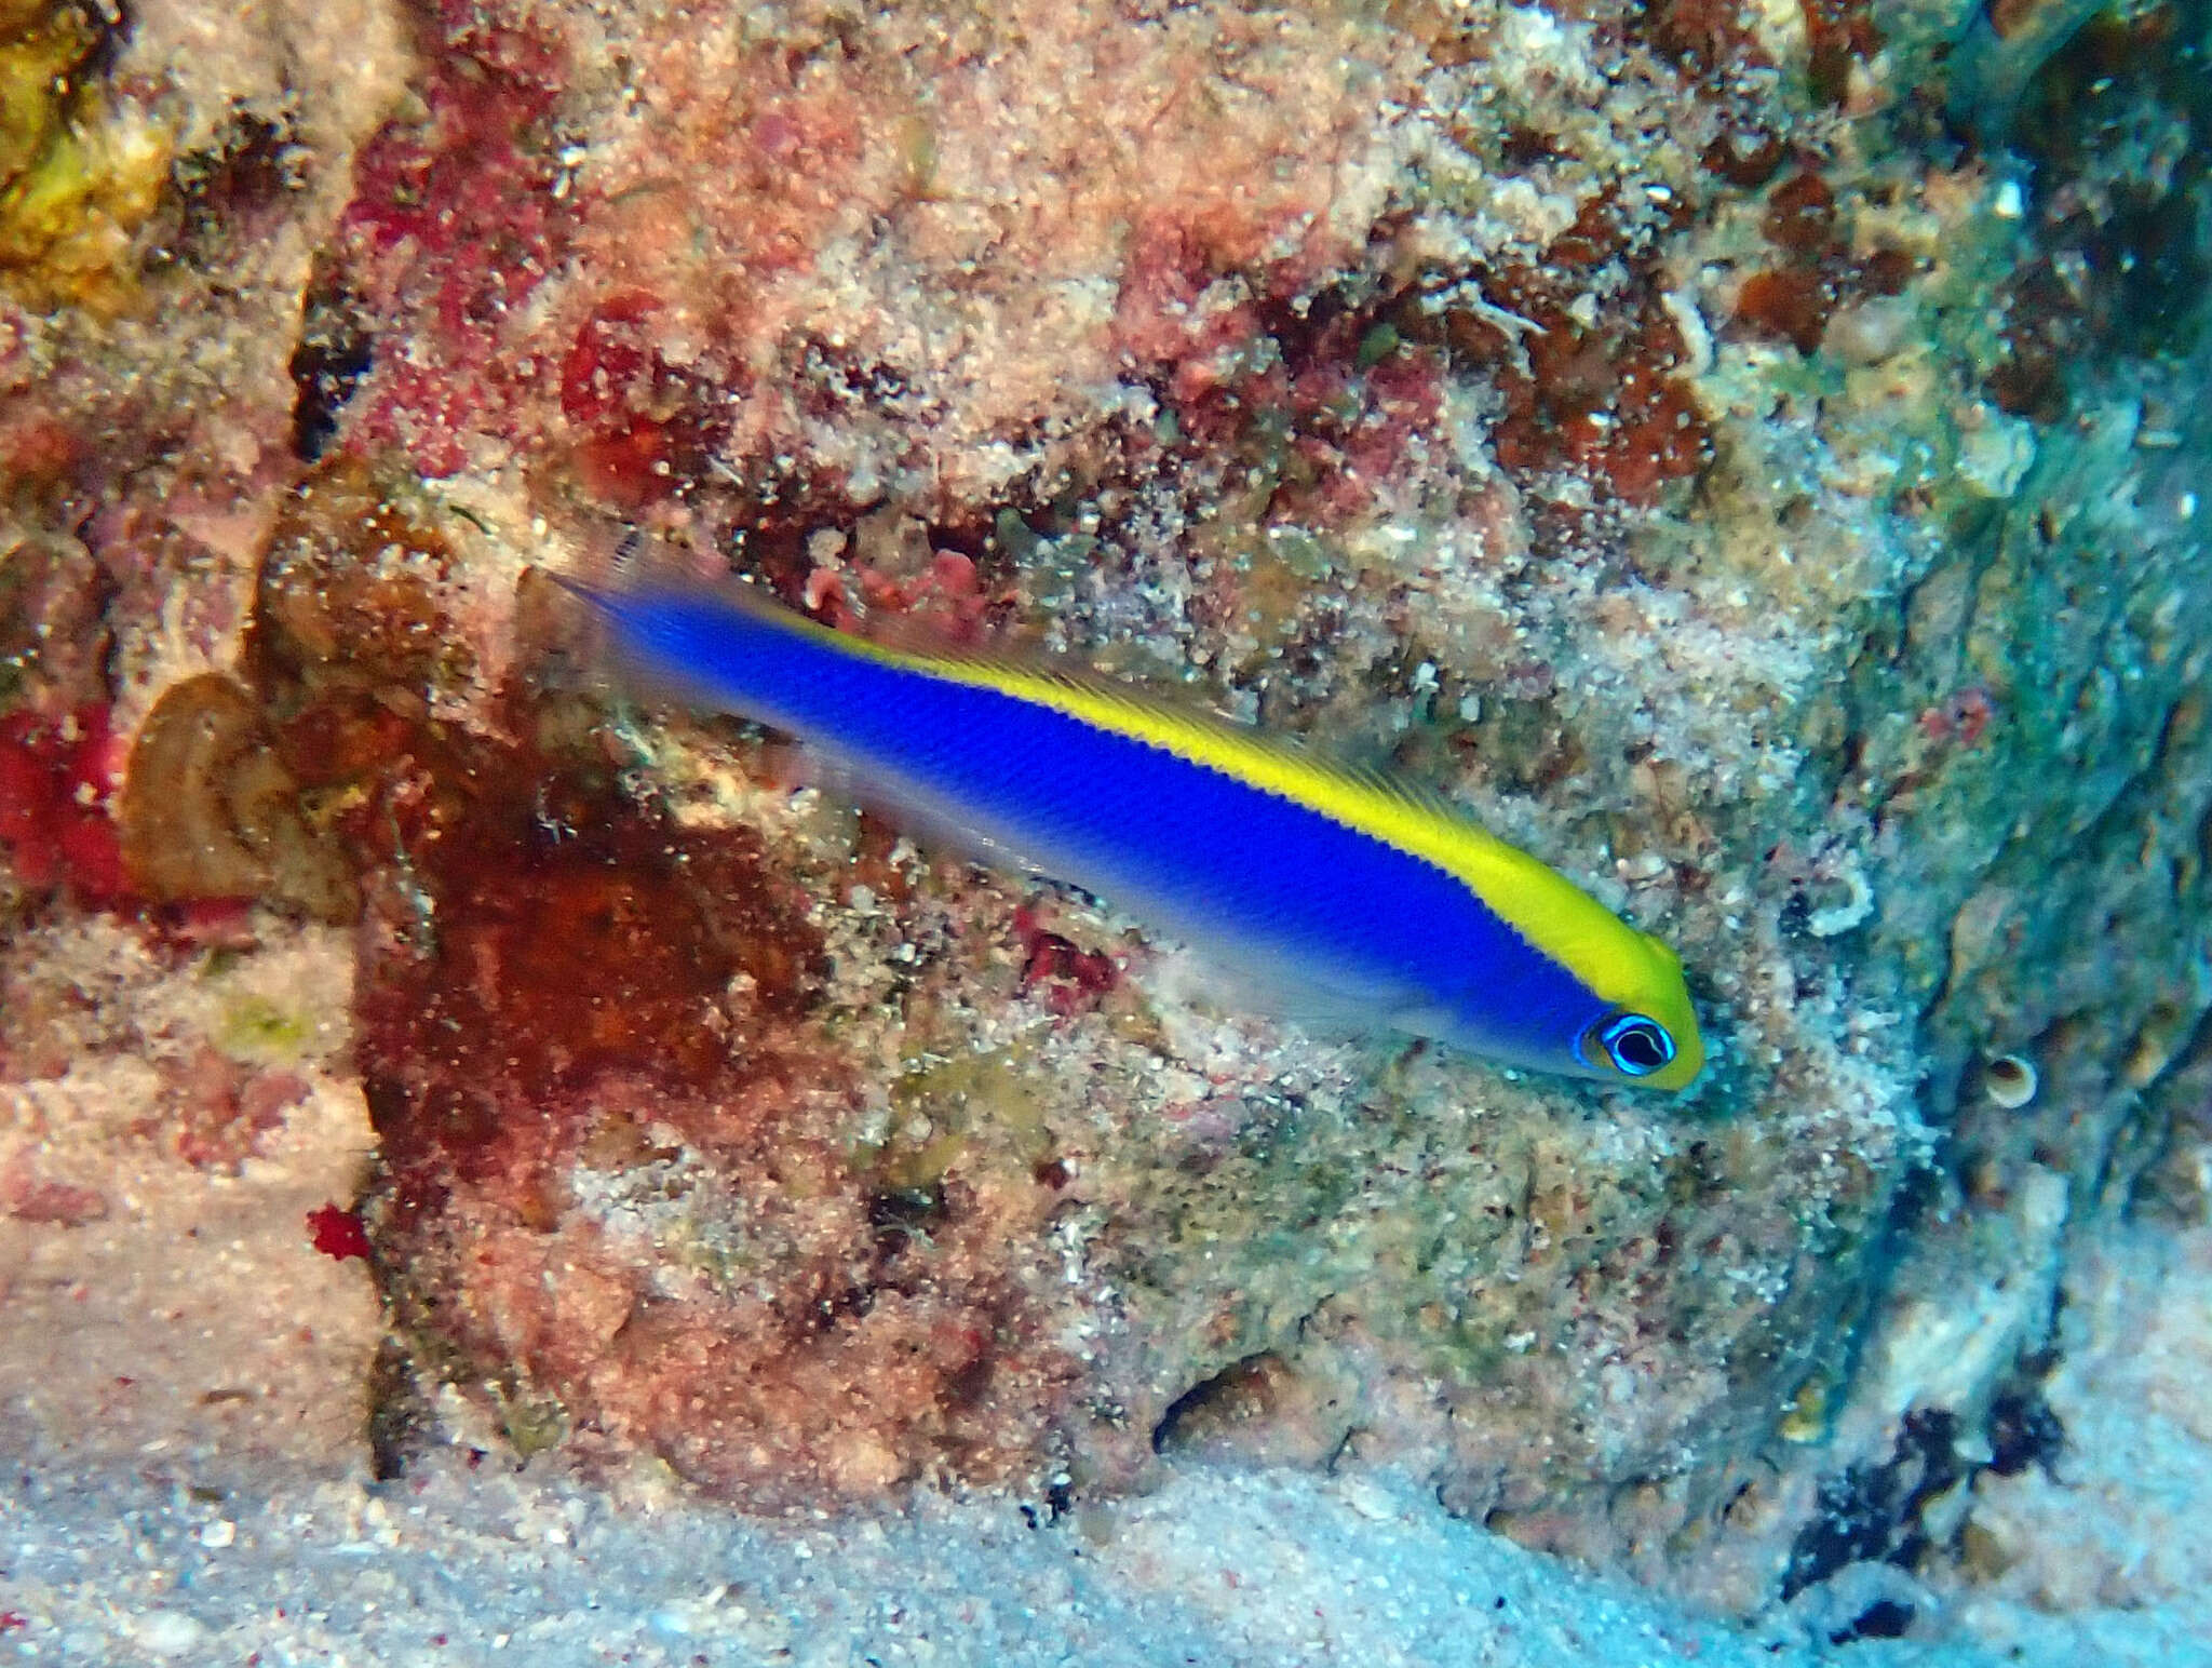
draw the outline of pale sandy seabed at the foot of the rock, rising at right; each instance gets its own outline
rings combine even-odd
[[[2011,1571],[1933,1641],[1834,1641],[1902,1571],[1752,1624],[1604,1582],[1389,1476],[1170,1471],[1053,1513],[918,1493],[754,1518],[431,1440],[405,1476],[33,1456],[0,1484],[0,1659],[69,1664],[2188,1664],[2203,1606],[2212,1232],[2115,1237],[2070,1283],[2055,1478],[1984,1478]],[[7,1341],[22,1349],[22,1334]],[[458,1405],[456,1405],[458,1407]],[[223,1476],[206,1469],[206,1476]],[[2192,1529],[2194,1524],[2194,1529]],[[2194,1571],[2194,1575],[2192,1575]]]

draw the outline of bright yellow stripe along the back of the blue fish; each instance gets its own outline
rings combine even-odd
[[[1566,967],[1597,995],[1628,1002],[1674,953],[1621,922],[1566,876],[1506,845],[1444,801],[1367,776],[1241,730],[1225,719],[1179,710],[1082,673],[1055,673],[982,655],[896,648],[814,619],[779,613],[779,624],[834,648],[949,684],[998,690],[1064,712],[1110,734],[1161,748],[1234,781],[1312,810],[1352,832],[1433,863],[1467,885],[1537,951]]]

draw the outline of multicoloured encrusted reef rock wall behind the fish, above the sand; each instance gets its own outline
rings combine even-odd
[[[86,46],[53,122],[170,157],[71,177],[97,268],[9,157],[0,1177],[374,1135],[387,1469],[449,1380],[752,1504],[1394,1464],[1745,1610],[1966,1560],[2070,1245],[2205,1210],[2201,15],[1980,126],[1962,4],[268,18]],[[1705,1077],[1303,1038],[608,697],[542,571],[624,527],[1396,759],[1681,951]]]

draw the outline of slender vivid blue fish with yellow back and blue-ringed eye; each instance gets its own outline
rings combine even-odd
[[[648,677],[1212,949],[1292,1013],[1652,1088],[1703,1064],[1672,949],[1411,783],[1106,677],[838,633],[743,586],[568,588]]]

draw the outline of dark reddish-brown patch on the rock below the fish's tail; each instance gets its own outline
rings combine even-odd
[[[400,1212],[456,1179],[535,1212],[562,1117],[613,1077],[675,1124],[712,1104],[686,1130],[712,1137],[743,1088],[790,1075],[743,1044],[805,1009],[818,940],[754,841],[681,834],[529,748],[392,743],[356,1022]]]

